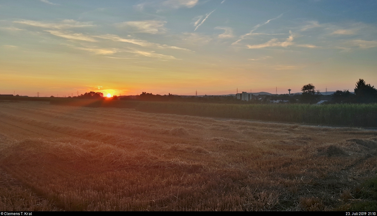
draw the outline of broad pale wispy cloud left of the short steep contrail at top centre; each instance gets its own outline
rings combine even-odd
[[[115,24],[115,26],[117,27],[130,26],[133,29],[136,29],[135,32],[157,34],[157,33],[164,32],[166,30],[164,28],[165,23],[166,21],[144,20],[144,21],[129,21],[125,23],[117,23]]]

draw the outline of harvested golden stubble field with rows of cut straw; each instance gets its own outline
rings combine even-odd
[[[339,210],[377,171],[360,128],[17,101],[0,134],[1,211]]]

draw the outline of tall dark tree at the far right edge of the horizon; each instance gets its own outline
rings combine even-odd
[[[363,79],[356,83],[355,95],[359,103],[377,102],[377,89],[371,84],[366,84]]]

